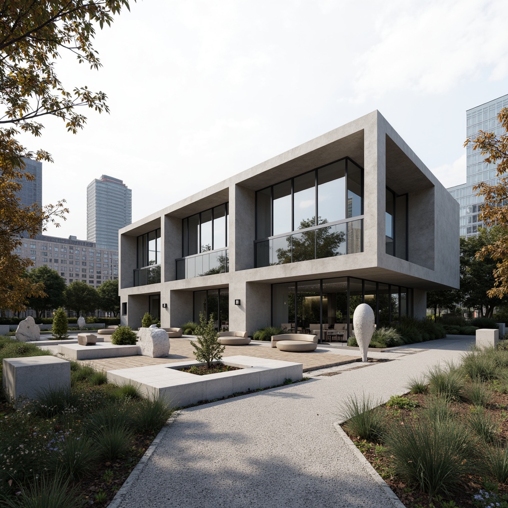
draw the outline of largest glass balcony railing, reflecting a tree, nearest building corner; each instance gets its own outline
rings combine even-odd
[[[256,267],[331,258],[363,251],[363,219],[324,224],[255,242]]]

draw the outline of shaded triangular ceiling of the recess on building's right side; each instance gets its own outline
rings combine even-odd
[[[388,134],[386,135],[386,184],[399,195],[419,192],[434,186]]]

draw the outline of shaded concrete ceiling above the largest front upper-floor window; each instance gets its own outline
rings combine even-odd
[[[288,152],[291,153],[291,150]],[[290,161],[284,162],[269,169],[263,169],[245,180],[237,182],[239,185],[251,190],[259,190],[282,180],[305,173],[315,168],[337,161],[342,157],[351,157],[353,161],[363,167],[364,165],[364,131],[345,136],[332,141],[325,146],[310,150]],[[260,165],[260,166],[264,166]],[[253,168],[256,170],[256,168]]]

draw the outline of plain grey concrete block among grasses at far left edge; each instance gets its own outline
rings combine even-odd
[[[42,390],[71,388],[71,363],[54,356],[5,358],[2,384],[7,398],[37,398]]]

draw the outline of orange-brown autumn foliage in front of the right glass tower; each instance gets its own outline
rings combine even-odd
[[[480,131],[474,140],[467,139],[464,146],[472,143],[473,150],[479,150],[486,155],[485,162],[496,164],[497,176],[508,171],[508,108],[503,108],[498,120],[505,134],[496,136],[494,133]],[[481,247],[479,259],[494,260],[494,283],[488,290],[491,298],[502,298],[508,294],[508,178],[502,177],[495,185],[481,182],[475,185],[477,195],[484,198],[480,219],[484,226],[490,228],[497,226],[497,233],[492,242]]]

